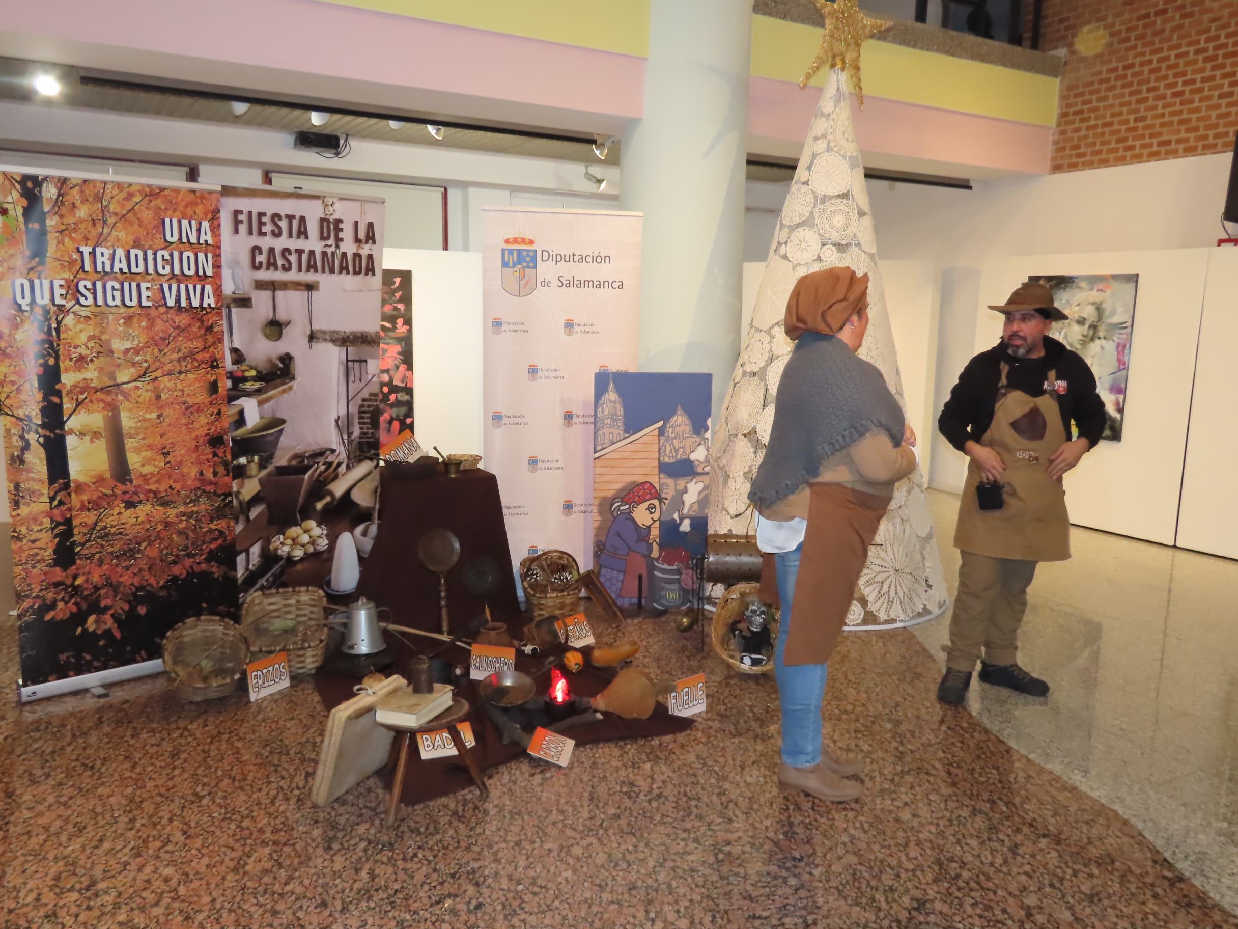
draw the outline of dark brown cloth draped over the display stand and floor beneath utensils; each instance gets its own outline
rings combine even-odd
[[[516,600],[511,554],[503,521],[503,504],[494,474],[487,471],[465,471],[459,477],[449,478],[439,471],[436,476],[422,481],[409,481],[394,479],[384,468],[380,481],[379,534],[370,556],[363,562],[357,595],[369,597],[380,607],[389,607],[394,622],[400,626],[438,632],[438,575],[421,566],[417,559],[417,540],[422,533],[442,526],[451,529],[461,540],[459,562],[447,575],[452,630],[465,628],[484,608],[483,602],[473,597],[464,586],[463,569],[470,559],[485,555],[494,559],[499,566],[499,588],[488,601],[490,614],[495,622],[506,623],[513,638],[519,639],[525,617],[520,614],[520,603]],[[617,629],[598,616],[593,616],[591,621],[599,643],[624,638],[621,629]],[[409,678],[409,661],[412,655],[428,654],[443,644],[432,639],[412,642],[413,638],[405,634],[400,639],[387,633],[386,643],[396,660],[386,674],[402,674]],[[452,645],[442,658],[449,659],[453,665],[468,665],[468,652],[458,645]],[[517,652],[516,668],[531,673],[542,668],[546,659],[547,655],[530,658]],[[592,697],[600,694],[614,675],[615,669],[586,666],[578,674],[568,674],[567,679],[573,696]],[[342,675],[324,666],[314,675],[314,687],[329,712],[332,707],[354,696],[353,687],[359,680],[358,676]],[[536,684],[537,694],[543,695],[550,685],[548,669],[537,675]],[[477,737],[477,746],[472,751],[483,770],[526,754],[519,744],[503,744],[503,736],[478,705],[477,690],[472,683],[465,683],[457,692],[473,706],[468,718]],[[588,744],[671,735],[683,732],[691,726],[691,718],[671,716],[666,707],[659,704],[647,720],[624,720],[613,713],[603,713],[600,721],[568,730],[565,735],[576,739],[577,744]],[[536,759],[530,759],[530,763],[553,767],[550,762]],[[381,773],[387,785],[391,783],[392,773],[390,764]],[[407,805],[413,805],[465,789],[477,788],[458,757],[421,761],[420,756],[415,754],[409,763],[402,800]]]

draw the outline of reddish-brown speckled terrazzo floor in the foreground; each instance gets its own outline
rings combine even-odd
[[[391,827],[376,779],[310,804],[326,712],[306,681],[256,705],[181,705],[161,679],[4,701],[0,925],[1238,929],[1125,819],[940,706],[912,632],[846,637],[832,664],[828,732],[870,765],[848,806],[779,789],[773,680],[727,674],[695,632],[629,633],[644,666],[706,671],[693,730],[521,759],[488,801]]]

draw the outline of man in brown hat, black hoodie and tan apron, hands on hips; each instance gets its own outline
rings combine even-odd
[[[1002,342],[968,362],[937,426],[971,458],[954,547],[962,555],[937,699],[962,704],[980,680],[1045,696],[1016,660],[1028,587],[1040,561],[1071,556],[1062,476],[1101,441],[1104,401],[1087,363],[1049,331],[1067,316],[1028,281],[1002,306]],[[1071,440],[1071,424],[1078,437]]]

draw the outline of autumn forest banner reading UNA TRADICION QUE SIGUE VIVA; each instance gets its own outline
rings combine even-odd
[[[0,420],[22,684],[235,613],[219,193],[0,173]]]

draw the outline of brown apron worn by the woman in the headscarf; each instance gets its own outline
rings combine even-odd
[[[823,664],[833,654],[855,596],[868,546],[877,536],[890,498],[844,484],[808,484],[808,529],[795,582],[786,664]],[[761,600],[777,603],[774,556],[761,565]]]

